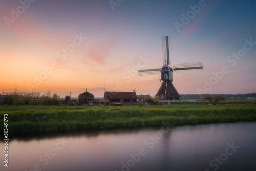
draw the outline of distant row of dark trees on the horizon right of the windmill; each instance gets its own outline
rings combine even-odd
[[[245,93],[245,94],[181,94],[181,99],[201,99],[206,96],[219,95],[225,99],[254,99],[256,98],[256,93]]]

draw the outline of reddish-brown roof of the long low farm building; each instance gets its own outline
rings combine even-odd
[[[104,99],[137,99],[136,92],[109,92],[106,91]]]

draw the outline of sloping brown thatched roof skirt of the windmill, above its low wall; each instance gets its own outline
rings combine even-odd
[[[165,89],[166,89],[166,95],[165,95]],[[161,87],[159,88],[156,94],[156,96],[159,96],[159,95],[165,95],[165,97],[180,97],[179,93],[175,89],[172,82],[168,81],[167,87],[166,87],[166,80],[163,81]]]

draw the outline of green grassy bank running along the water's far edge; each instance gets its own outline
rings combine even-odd
[[[0,106],[8,132],[58,132],[100,127],[161,126],[256,120],[256,105]],[[4,132],[1,122],[0,132]]]

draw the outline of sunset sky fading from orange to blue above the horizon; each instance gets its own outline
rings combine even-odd
[[[162,37],[180,94],[256,92],[256,2],[220,0],[3,0],[0,2],[0,92],[50,90],[154,96]]]

